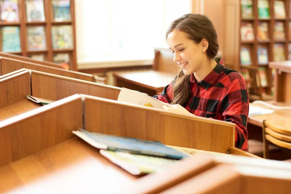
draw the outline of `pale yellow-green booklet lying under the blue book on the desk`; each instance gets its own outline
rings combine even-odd
[[[178,160],[173,159],[104,149],[100,150],[100,154],[132,175],[162,172],[178,162]]]

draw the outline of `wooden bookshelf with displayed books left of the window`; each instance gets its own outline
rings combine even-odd
[[[78,71],[74,6],[74,0],[0,0],[0,51]],[[13,17],[4,13],[11,8]]]

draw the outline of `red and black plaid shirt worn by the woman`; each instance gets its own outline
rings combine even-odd
[[[236,124],[235,146],[247,150],[249,99],[242,75],[226,68],[221,60],[204,80],[197,82],[192,74],[190,81],[193,96],[183,107],[196,116]],[[173,99],[172,86],[173,81],[154,97],[170,103]]]

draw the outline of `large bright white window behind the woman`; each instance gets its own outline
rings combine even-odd
[[[78,63],[152,60],[192,0],[75,0]],[[116,64],[116,62],[115,62]]]

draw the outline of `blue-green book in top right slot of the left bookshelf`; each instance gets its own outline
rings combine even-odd
[[[52,0],[54,21],[70,21],[70,0]]]

